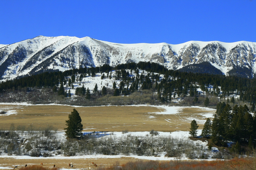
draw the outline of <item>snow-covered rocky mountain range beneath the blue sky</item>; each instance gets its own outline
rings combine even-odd
[[[11,45],[0,45],[0,77],[7,80],[47,70],[65,71],[139,61],[160,63],[174,70],[209,62],[223,74],[245,69],[246,76],[252,77],[256,73],[255,54],[256,43],[246,41],[117,44],[90,37],[38,36]]]

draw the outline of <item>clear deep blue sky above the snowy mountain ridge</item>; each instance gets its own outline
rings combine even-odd
[[[0,44],[39,35],[125,44],[256,42],[256,0],[0,1]]]

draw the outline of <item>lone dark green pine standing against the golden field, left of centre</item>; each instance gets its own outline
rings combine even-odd
[[[64,128],[66,136],[69,138],[76,138],[82,135],[83,124],[81,124],[82,119],[79,113],[73,109],[71,114],[69,114],[69,120],[66,120],[67,128]]]

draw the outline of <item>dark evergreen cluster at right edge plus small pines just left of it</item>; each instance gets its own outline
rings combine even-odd
[[[193,120],[189,132],[192,137],[197,136],[198,127]],[[217,146],[232,146],[231,152],[249,155],[255,148],[256,113],[252,115],[247,105],[234,105],[232,108],[225,102],[219,102],[213,121],[206,120],[201,136],[210,138]]]

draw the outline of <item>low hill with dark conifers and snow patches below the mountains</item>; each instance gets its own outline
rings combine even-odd
[[[89,80],[86,78],[99,76],[102,81],[111,79],[113,84],[101,83],[93,88],[85,87],[85,83]],[[255,84],[256,79],[180,72],[168,70],[157,63],[132,62],[115,67],[105,64],[101,67],[72,69],[65,72],[44,72],[8,80],[0,84],[0,98],[2,102],[25,101],[35,104],[76,102],[81,105],[122,105],[124,102],[125,104],[159,104],[171,103],[179,99],[186,101],[187,105],[199,105],[204,104],[203,101],[208,96],[235,98],[237,101],[246,101],[254,105]],[[111,102],[116,101],[115,98],[118,96],[126,98],[120,103]],[[110,103],[104,101],[106,98]],[[186,100],[187,98],[189,101]],[[217,103],[218,101],[213,101],[209,105],[213,106]]]

